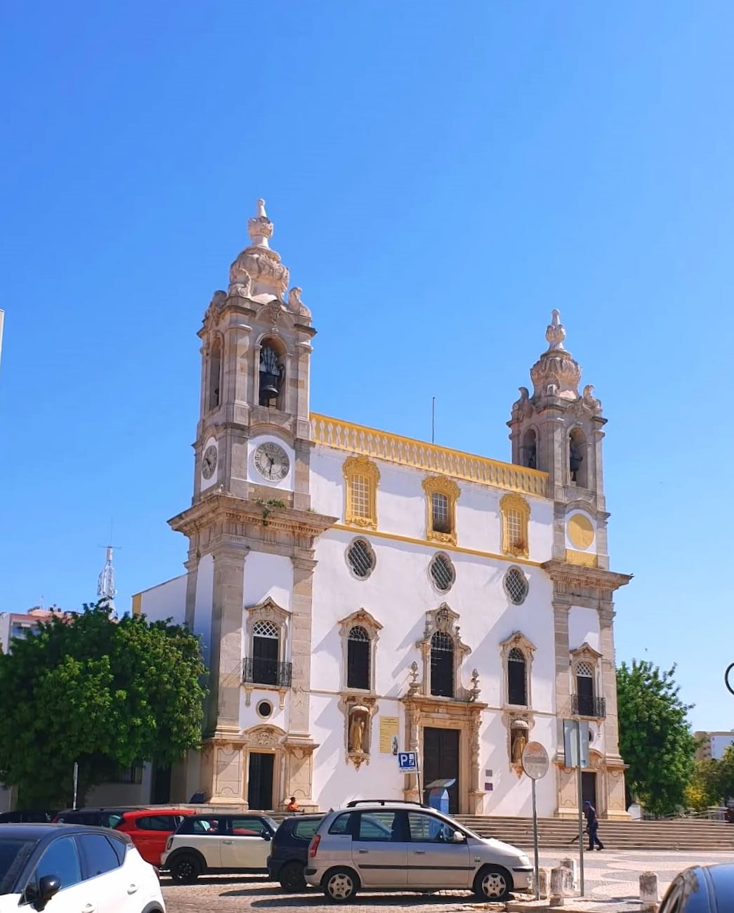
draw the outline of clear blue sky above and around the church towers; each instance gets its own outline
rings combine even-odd
[[[619,659],[734,726],[734,5],[5,6],[0,611],[181,572],[195,332],[257,196],[311,405],[509,458],[558,307],[609,418]],[[727,405],[727,408],[724,408]]]

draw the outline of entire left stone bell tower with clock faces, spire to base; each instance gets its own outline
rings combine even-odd
[[[201,768],[188,771],[186,784],[218,802],[246,803],[257,743],[277,754],[276,789],[308,801],[313,544],[335,520],[310,510],[310,311],[299,288],[287,291],[288,268],[270,248],[263,200],[248,231],[250,244],[198,333],[194,497],[169,521],[189,539],[186,624],[201,635],[210,669]],[[270,593],[275,579],[278,603]],[[258,677],[251,666],[246,672],[257,621],[277,635],[273,680],[268,666],[259,697],[278,708],[278,727],[255,715]]]

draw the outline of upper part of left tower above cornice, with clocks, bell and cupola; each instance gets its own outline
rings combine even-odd
[[[247,227],[250,244],[230,267],[227,290],[215,292],[199,331],[194,503],[210,489],[267,500],[267,487],[277,485],[292,492],[278,494],[278,500],[309,509],[309,362],[315,331],[301,289],[288,291],[288,267],[270,248],[273,223],[263,200]],[[252,442],[258,437],[266,444],[266,437],[272,440],[253,464]]]

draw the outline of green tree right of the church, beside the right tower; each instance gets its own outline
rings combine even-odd
[[[661,672],[634,659],[617,669],[619,745],[627,786],[645,809],[674,813],[694,771],[697,742],[688,724],[690,706],[678,697],[676,666]]]

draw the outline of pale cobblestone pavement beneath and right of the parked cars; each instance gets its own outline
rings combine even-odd
[[[557,866],[561,858],[571,856],[578,860],[578,849],[569,853],[568,848],[543,851],[540,866]],[[696,854],[681,852],[645,852],[628,850],[614,853],[584,854],[585,897],[579,908],[604,913],[627,913],[638,910],[638,877],[641,872],[656,872],[662,891],[677,872],[699,863],[731,862],[727,853]],[[211,876],[200,878],[195,885],[174,885],[163,876],[163,897],[168,913],[277,913],[303,909],[309,913],[326,913],[338,907],[327,903],[320,891],[313,888],[302,894],[284,894],[279,885],[265,876]],[[524,897],[517,895],[518,899]],[[568,903],[568,902],[567,902]],[[575,905],[574,905],[575,906]],[[455,913],[459,910],[501,910],[504,905],[484,904],[469,892],[442,891],[434,895],[416,894],[367,894],[362,893],[349,905],[360,913],[397,913],[405,907],[419,913]]]

